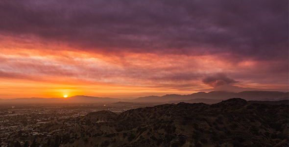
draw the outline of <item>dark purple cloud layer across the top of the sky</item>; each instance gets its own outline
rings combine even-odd
[[[288,60],[288,0],[6,0],[0,20],[2,34],[96,52]]]

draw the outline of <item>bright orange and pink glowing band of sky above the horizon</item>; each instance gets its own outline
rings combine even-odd
[[[124,52],[118,56],[77,52],[65,46],[48,45],[44,48],[41,44],[28,44],[30,49],[27,49],[27,44],[7,42],[10,44],[5,44],[4,47],[2,45],[0,52],[0,98],[61,98],[65,95],[137,98],[148,95],[187,95],[199,91],[214,91],[214,87],[201,81],[204,74],[234,71],[241,74],[248,70],[259,73],[257,66],[267,64],[256,61],[229,62],[214,55]],[[175,76],[179,74],[182,77]],[[234,79],[238,83],[230,85],[234,92],[288,87],[286,81],[267,84],[258,81],[259,79],[244,80],[236,76]]]

